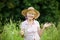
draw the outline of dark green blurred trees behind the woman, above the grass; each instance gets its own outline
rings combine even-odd
[[[38,21],[59,22],[59,0],[0,0],[0,21],[2,24],[12,19],[14,22],[24,20],[21,11],[33,6],[40,12]]]

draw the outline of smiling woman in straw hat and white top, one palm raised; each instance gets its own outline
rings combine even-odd
[[[24,9],[22,15],[26,18],[20,25],[21,35],[24,35],[24,40],[40,40],[40,36],[45,29],[45,27],[50,26],[50,23],[44,24],[44,27],[40,29],[39,22],[37,19],[40,16],[40,13],[35,10],[33,7]]]

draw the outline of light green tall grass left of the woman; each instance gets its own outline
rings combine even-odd
[[[20,36],[19,30],[16,27],[16,23],[10,21],[10,23],[4,25],[1,40],[23,40]]]

